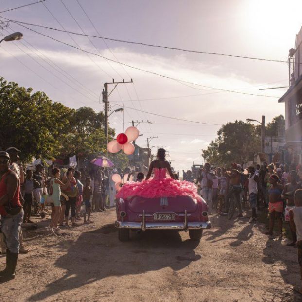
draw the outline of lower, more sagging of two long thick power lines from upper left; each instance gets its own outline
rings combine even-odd
[[[3,17],[2,17],[2,18],[3,18]],[[4,19],[6,19],[6,18],[4,18]],[[41,36],[46,36],[46,37],[48,37],[48,38],[50,38],[50,39],[52,39],[52,40],[54,40],[54,41],[57,41],[57,42],[62,43],[62,44],[64,44],[64,45],[67,45],[67,46],[70,46],[70,47],[72,47],[72,48],[81,50],[81,51],[84,52],[84,53],[90,53],[90,54],[93,54],[93,55],[102,57],[102,58],[104,58],[104,59],[107,59],[107,60],[109,60],[109,61],[112,61],[112,62],[115,62],[115,63],[118,63],[118,64],[122,64],[122,65],[124,65],[124,66],[129,67],[129,68],[132,68],[132,69],[135,69],[135,70],[139,70],[139,71],[143,71],[143,72],[146,72],[146,73],[150,73],[150,74],[153,74],[153,75],[157,75],[157,76],[160,76],[160,77],[163,77],[163,78],[166,78],[166,79],[170,79],[170,80],[173,80],[173,81],[188,83],[188,84],[192,84],[192,85],[196,85],[196,86],[200,86],[200,87],[205,87],[205,88],[215,89],[215,90],[220,90],[220,91],[225,91],[225,92],[232,92],[232,93],[245,94],[245,95],[253,95],[253,96],[261,96],[261,97],[269,97],[269,98],[278,98],[278,99],[280,98],[280,97],[277,97],[277,96],[262,95],[262,94],[254,94],[254,93],[241,92],[241,91],[235,91],[235,90],[229,90],[229,89],[219,89],[219,88],[215,88],[215,87],[211,87],[211,86],[206,86],[206,85],[202,85],[202,84],[198,84],[198,83],[193,83],[193,82],[189,82],[189,81],[185,81],[185,80],[180,80],[180,79],[173,78],[173,77],[170,77],[170,76],[167,76],[167,75],[163,75],[163,74],[160,74],[160,73],[157,73],[157,72],[144,70],[144,69],[142,69],[142,68],[135,67],[135,66],[131,66],[131,65],[128,65],[128,64],[119,62],[119,61],[115,61],[115,60],[106,58],[106,57],[104,57],[104,56],[102,56],[102,55],[99,55],[99,54],[97,54],[97,53],[92,53],[92,52],[89,52],[89,51],[87,51],[87,50],[81,49],[81,48],[79,48],[79,47],[76,47],[76,46],[74,46],[74,45],[71,45],[71,44],[68,44],[68,43],[66,43],[66,42],[60,41],[60,40],[58,40],[58,39],[56,39],[56,38],[53,38],[53,37],[51,37],[51,36],[45,35],[45,34],[43,34],[43,33],[40,33],[40,32],[38,32],[38,31],[36,31],[36,30],[34,30],[34,29],[28,28],[28,27],[26,27],[26,26],[24,26],[24,25],[22,25],[22,24],[19,24],[18,22],[14,22],[14,23],[16,23],[16,24],[18,24],[18,25],[20,25],[20,26],[22,26],[22,27],[24,27],[24,28],[27,28],[28,30],[33,31],[33,32],[35,32],[35,33],[37,33],[37,34],[39,34],[39,35],[41,35]]]

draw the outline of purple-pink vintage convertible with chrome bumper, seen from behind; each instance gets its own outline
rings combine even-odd
[[[187,196],[120,198],[116,204],[120,241],[128,241],[130,230],[179,230],[189,231],[191,240],[200,240],[203,229],[210,229],[208,206],[202,200]]]

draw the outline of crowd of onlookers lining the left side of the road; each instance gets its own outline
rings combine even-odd
[[[21,225],[33,223],[32,215],[45,218],[51,208],[49,231],[90,224],[93,212],[104,212],[115,205],[116,187],[113,174],[121,178],[126,168],[104,168],[95,165],[76,170],[42,164],[25,171],[19,161],[21,151],[10,147],[0,151],[0,247],[6,254],[6,267],[0,271],[0,283],[15,278],[18,254],[24,247]],[[144,178],[142,173],[137,181]]]

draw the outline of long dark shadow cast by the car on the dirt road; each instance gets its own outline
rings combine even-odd
[[[178,271],[201,258],[194,251],[199,242],[182,241],[178,231],[146,231],[133,237],[129,242],[119,242],[113,224],[82,233],[55,262],[65,275],[28,301],[42,301],[108,276],[140,274],[164,267]]]

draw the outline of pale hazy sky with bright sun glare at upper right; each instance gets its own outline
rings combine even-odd
[[[87,34],[98,35],[76,0],[62,1]],[[102,36],[285,61],[302,25],[299,16],[302,3],[298,0],[291,6],[282,0],[78,1]],[[2,0],[0,11],[30,2],[35,1]],[[61,0],[47,0],[1,13],[0,16],[61,28],[45,6],[67,30],[81,33]],[[284,63],[186,53],[112,41],[107,41],[108,49],[102,39],[91,38],[92,44],[86,37],[72,36],[72,40],[66,33],[34,29],[72,45],[76,42],[85,50],[128,65],[214,88],[278,97],[286,89],[259,89],[288,85],[288,67]],[[0,75],[19,85],[45,91],[53,101],[69,107],[89,106],[96,111],[103,110],[98,98],[104,82],[111,81],[111,78],[116,81],[124,78],[126,81],[131,77],[134,84],[120,85],[110,95],[113,110],[121,107],[121,100],[124,100],[126,107],[213,124],[248,117],[259,120],[263,114],[266,121],[270,121],[274,116],[284,114],[284,104],[278,104],[277,98],[221,92],[194,85],[188,87],[86,55],[13,23],[1,32],[7,35],[17,30],[24,34],[22,41],[1,43]],[[53,63],[63,70],[61,72],[67,72],[64,74],[69,79],[58,73],[58,67],[53,69],[50,66]],[[70,75],[76,81],[70,79]],[[146,146],[147,137],[158,136],[152,140],[151,146],[165,146],[169,150],[169,159],[174,160],[173,165],[179,170],[190,168],[193,161],[202,161],[201,149],[206,148],[219,129],[217,125],[180,122],[125,109],[124,128],[132,119],[153,122],[138,126],[143,136],[137,143]],[[113,113],[110,124],[117,133],[122,132],[123,114]]]

